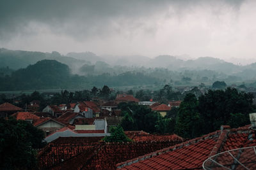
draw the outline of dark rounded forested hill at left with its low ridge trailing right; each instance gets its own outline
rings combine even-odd
[[[68,89],[91,86],[129,86],[153,84],[157,78],[142,73],[123,73],[116,76],[102,74],[98,76],[78,76],[70,73],[70,68],[56,60],[41,60],[24,69],[14,71],[10,76],[0,76],[0,91]]]

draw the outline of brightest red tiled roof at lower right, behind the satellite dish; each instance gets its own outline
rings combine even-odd
[[[121,169],[202,169],[204,160],[210,156],[246,146],[256,146],[254,131],[248,126],[223,129],[116,166]],[[230,161],[230,157],[223,159]]]

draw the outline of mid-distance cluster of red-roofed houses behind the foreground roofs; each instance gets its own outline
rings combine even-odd
[[[110,127],[122,121],[118,104],[124,102],[146,105],[164,117],[172,107],[179,106],[181,101],[170,101],[167,105],[153,101],[140,102],[132,95],[118,94],[113,101],[48,105],[42,111],[39,111],[40,101],[31,101],[25,111],[13,104],[4,103],[0,105],[0,116],[12,116],[30,122],[45,132],[45,141],[49,143],[60,137],[108,136]]]

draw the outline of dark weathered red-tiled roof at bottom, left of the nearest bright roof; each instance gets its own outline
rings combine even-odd
[[[58,140],[58,139],[57,139]],[[116,169],[116,164],[182,141],[51,143],[38,155],[41,169]],[[51,146],[51,147],[50,147]]]

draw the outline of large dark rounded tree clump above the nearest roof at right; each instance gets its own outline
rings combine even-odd
[[[250,124],[249,113],[255,111],[253,95],[236,89],[209,90],[196,99],[188,94],[178,111],[175,132],[185,138],[220,129],[221,125],[239,127]]]

